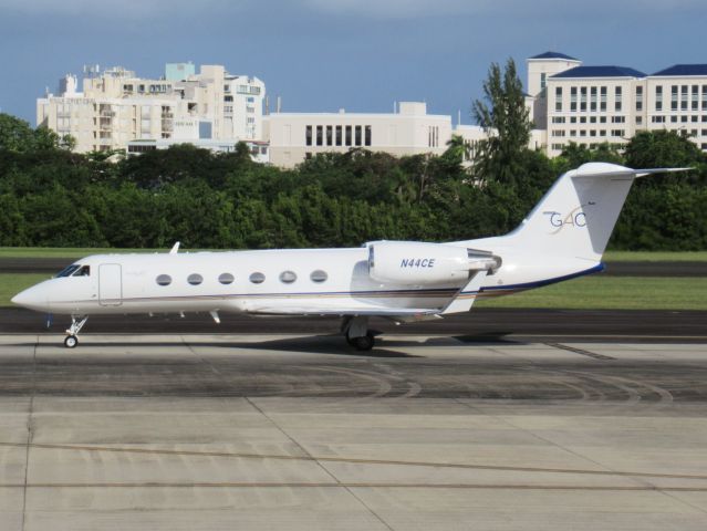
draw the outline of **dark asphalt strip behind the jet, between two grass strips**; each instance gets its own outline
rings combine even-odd
[[[72,258],[0,258],[0,273],[54,274]],[[616,277],[707,277],[707,262],[606,262],[604,274]]]

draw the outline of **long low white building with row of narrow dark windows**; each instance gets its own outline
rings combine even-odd
[[[439,155],[451,138],[451,117],[402,102],[396,113],[273,113],[264,117],[270,160],[292,167],[319,153],[362,147],[392,155]]]

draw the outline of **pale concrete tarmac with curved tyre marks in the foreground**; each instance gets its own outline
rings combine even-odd
[[[0,335],[0,529],[704,530],[705,343]]]

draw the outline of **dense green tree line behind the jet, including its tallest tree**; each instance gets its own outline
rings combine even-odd
[[[351,149],[293,169],[253,163],[245,145],[229,154],[179,145],[111,162],[0,114],[0,246],[165,248],[179,240],[264,249],[486,237],[514,228],[563,171],[604,160],[696,168],[640,179],[611,248],[707,248],[707,159],[689,139],[643,132],[621,153],[571,144],[549,159],[527,147],[530,125],[511,66],[495,65],[486,98],[475,103],[492,134],[475,146],[470,167],[470,146],[459,138],[440,156]]]

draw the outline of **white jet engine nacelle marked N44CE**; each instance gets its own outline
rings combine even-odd
[[[414,241],[375,241],[368,247],[368,274],[376,282],[435,284],[460,282],[472,268],[464,247]]]

